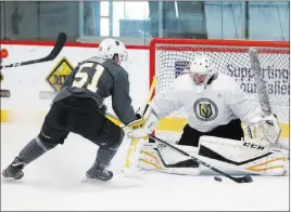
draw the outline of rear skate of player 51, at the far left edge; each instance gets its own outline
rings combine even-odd
[[[16,157],[13,162],[2,172],[5,178],[21,180],[24,175],[23,173],[24,163],[18,157]]]

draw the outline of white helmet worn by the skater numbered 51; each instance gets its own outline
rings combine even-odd
[[[113,58],[115,55],[118,55],[118,64],[128,61],[126,47],[117,39],[106,38],[102,40],[99,44],[98,51],[99,55],[105,58]]]

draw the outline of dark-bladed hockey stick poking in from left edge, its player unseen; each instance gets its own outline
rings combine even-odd
[[[13,64],[9,64],[9,65],[3,65],[0,66],[0,69],[3,68],[12,68],[12,67],[18,67],[18,66],[25,66],[25,65],[31,65],[31,64],[38,64],[38,63],[42,63],[42,62],[49,62],[54,59],[59,53],[62,51],[64,44],[66,41],[66,35],[64,32],[59,34],[58,36],[58,40],[55,42],[55,45],[53,48],[53,50],[50,52],[49,55],[42,57],[42,58],[38,58],[38,59],[31,59],[31,61],[26,61],[26,62],[21,62],[21,63],[13,63]]]

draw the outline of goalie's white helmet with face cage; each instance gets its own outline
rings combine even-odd
[[[197,92],[201,93],[214,75],[214,65],[207,55],[197,55],[189,64],[190,77],[198,87]]]

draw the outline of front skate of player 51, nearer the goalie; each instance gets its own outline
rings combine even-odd
[[[87,171],[86,176],[89,181],[110,181],[113,177],[113,173],[104,167],[101,167],[100,163],[96,161],[94,164]]]

